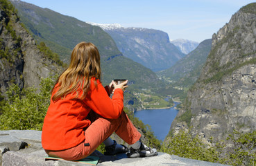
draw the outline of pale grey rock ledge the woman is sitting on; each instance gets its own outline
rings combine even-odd
[[[0,131],[0,147],[1,154],[4,148],[10,149],[2,154],[1,163],[3,166],[9,165],[52,165],[52,166],[66,166],[66,165],[85,165],[83,163],[76,163],[68,160],[47,160],[44,157],[47,154],[42,149],[41,145],[42,131],[33,130],[10,130]],[[26,142],[26,146],[22,146],[22,142]],[[21,149],[22,148],[22,149]],[[99,156],[102,161],[99,166],[117,166],[117,165],[204,165],[204,166],[220,166],[217,163],[208,163],[200,160],[191,160],[187,158],[180,158],[178,156],[159,153],[157,156],[148,158],[126,158],[126,154],[118,156],[104,156],[99,151],[95,151],[94,156]],[[0,164],[1,164],[0,163]]]

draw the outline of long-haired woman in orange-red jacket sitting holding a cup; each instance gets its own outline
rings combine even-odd
[[[139,141],[141,134],[123,112],[122,84],[101,84],[99,50],[81,42],[71,53],[69,67],[52,89],[44,118],[42,147],[49,156],[79,160],[105,143],[106,154],[127,152],[109,136],[115,132],[130,145],[128,157],[155,156],[157,151]],[[113,93],[112,98],[110,94]]]

